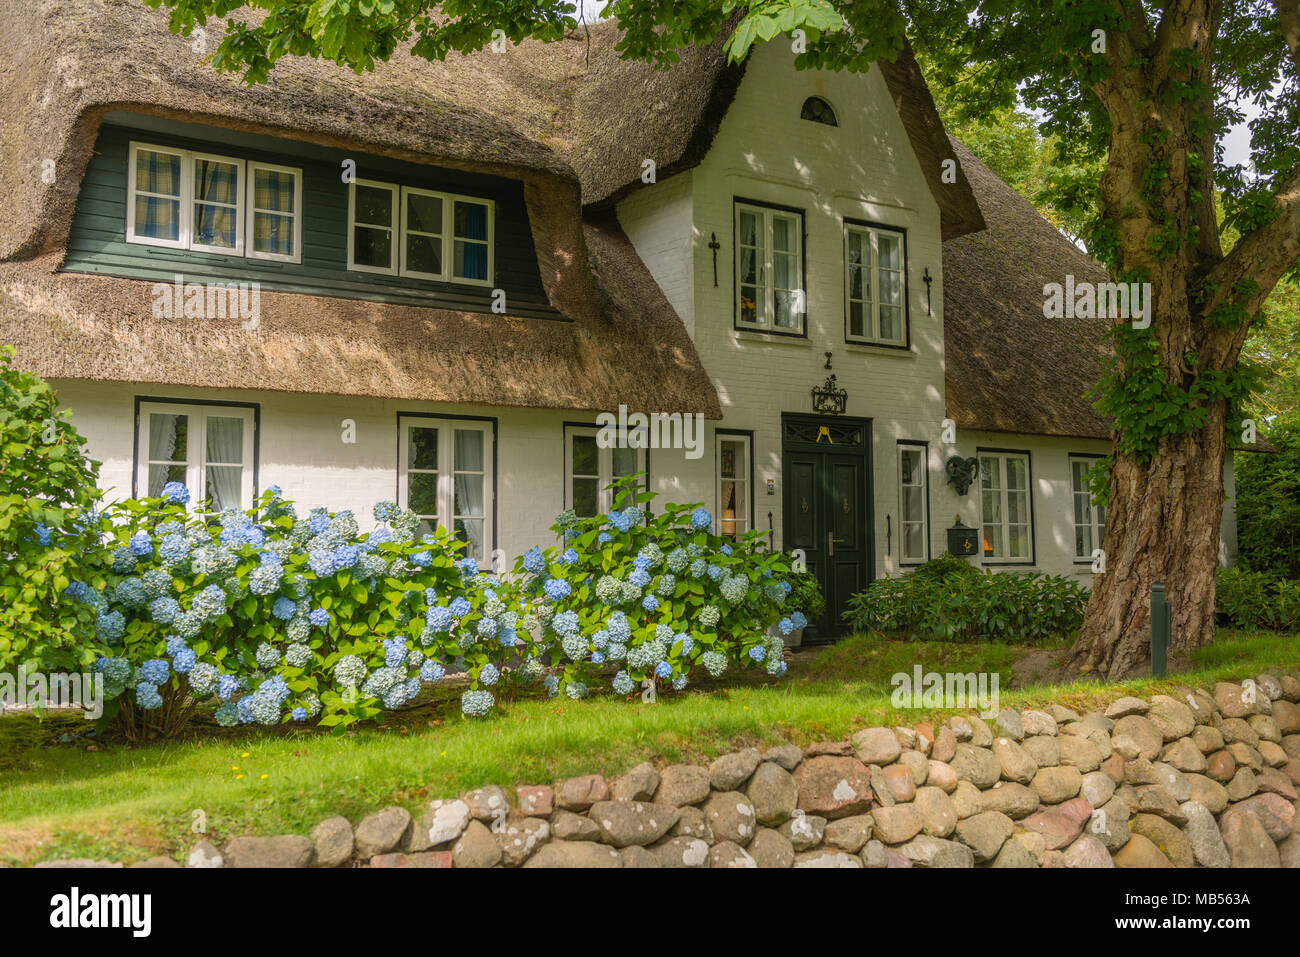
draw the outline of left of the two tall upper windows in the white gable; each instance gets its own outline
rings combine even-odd
[[[803,213],[736,203],[736,326],[803,334]]]

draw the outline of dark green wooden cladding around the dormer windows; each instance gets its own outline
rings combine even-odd
[[[131,143],[217,155],[246,164],[300,169],[300,261],[127,242]],[[356,164],[355,176],[360,181],[489,200],[493,211],[490,281],[433,281],[348,269],[348,185],[343,181],[347,160]],[[244,169],[251,170],[252,166],[247,165]],[[136,186],[150,189],[140,179]],[[374,194],[369,195],[373,199]],[[155,202],[153,205],[166,204]],[[247,217],[248,200],[244,200],[244,205],[243,215]],[[143,207],[136,204],[135,208]],[[448,207],[448,216],[452,208],[455,207]],[[205,209],[208,213],[213,212],[213,207]],[[151,216],[161,215],[164,218],[170,215],[166,208],[150,212]],[[463,211],[458,211],[458,222],[465,221],[462,213]],[[203,213],[195,213],[195,220],[202,217]],[[472,220],[473,217],[471,222]],[[472,226],[471,231],[477,234],[480,226]],[[251,235],[247,229],[243,234]],[[363,230],[361,235],[373,237],[374,231]],[[428,248],[426,241],[415,242],[425,243],[421,248]],[[451,237],[447,237],[446,244],[450,260]],[[484,248],[462,243],[459,252],[462,259],[477,263]],[[354,260],[358,257],[354,254]],[[494,290],[502,290],[506,312],[511,316],[562,319],[547,302],[542,287],[524,189],[516,179],[122,112],[109,113],[100,129],[95,152],[82,179],[64,269],[162,282],[172,282],[179,273],[186,282],[257,282],[268,291],[489,313],[493,312],[494,298],[500,298],[499,294],[494,296]],[[450,267],[447,272],[450,274]]]

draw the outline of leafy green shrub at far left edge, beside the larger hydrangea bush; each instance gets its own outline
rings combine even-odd
[[[94,661],[91,615],[62,592],[91,573],[99,463],[53,389],[12,358],[0,348],[0,671],[77,671]]]

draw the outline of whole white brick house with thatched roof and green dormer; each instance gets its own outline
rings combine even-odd
[[[910,52],[651,70],[603,23],[247,90],[135,0],[74,7],[105,35],[4,14],[60,69],[6,73],[0,342],[109,498],[395,499],[511,562],[637,473],[801,549],[824,632],[958,519],[978,563],[1091,581],[1108,322],[1044,319],[1043,286],[1105,273],[948,139]]]

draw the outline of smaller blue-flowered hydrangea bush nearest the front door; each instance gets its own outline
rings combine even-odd
[[[516,562],[519,589],[558,666],[547,690],[585,697],[598,671],[615,672],[620,694],[651,685],[681,690],[699,670],[712,677],[732,666],[785,674],[781,636],[806,624],[800,612],[781,611],[788,557],[767,551],[759,533],[714,534],[699,506],[647,515],[653,493],[630,485],[618,493],[627,507],[586,519],[562,512],[554,525],[560,544]]]

